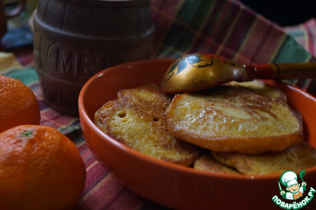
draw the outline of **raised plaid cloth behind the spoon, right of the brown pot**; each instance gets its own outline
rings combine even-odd
[[[152,11],[160,58],[208,52],[242,64],[315,61],[293,36],[236,0],[152,0]],[[287,82],[315,91],[311,80]]]

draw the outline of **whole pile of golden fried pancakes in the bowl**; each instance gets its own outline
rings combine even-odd
[[[257,80],[175,96],[154,84],[124,89],[95,124],[141,153],[200,170],[261,175],[316,165],[300,114]]]

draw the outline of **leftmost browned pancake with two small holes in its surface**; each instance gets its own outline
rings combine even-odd
[[[125,89],[95,113],[94,121],[103,132],[138,152],[188,166],[199,157],[200,148],[169,133],[165,110],[170,102],[157,85]]]

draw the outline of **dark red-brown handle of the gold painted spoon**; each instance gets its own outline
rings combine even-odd
[[[245,66],[245,79],[316,78],[316,63],[280,63]]]

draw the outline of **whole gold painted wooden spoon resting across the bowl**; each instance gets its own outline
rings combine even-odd
[[[222,56],[200,53],[176,60],[163,75],[161,89],[183,93],[231,81],[316,78],[316,63],[238,64]]]

